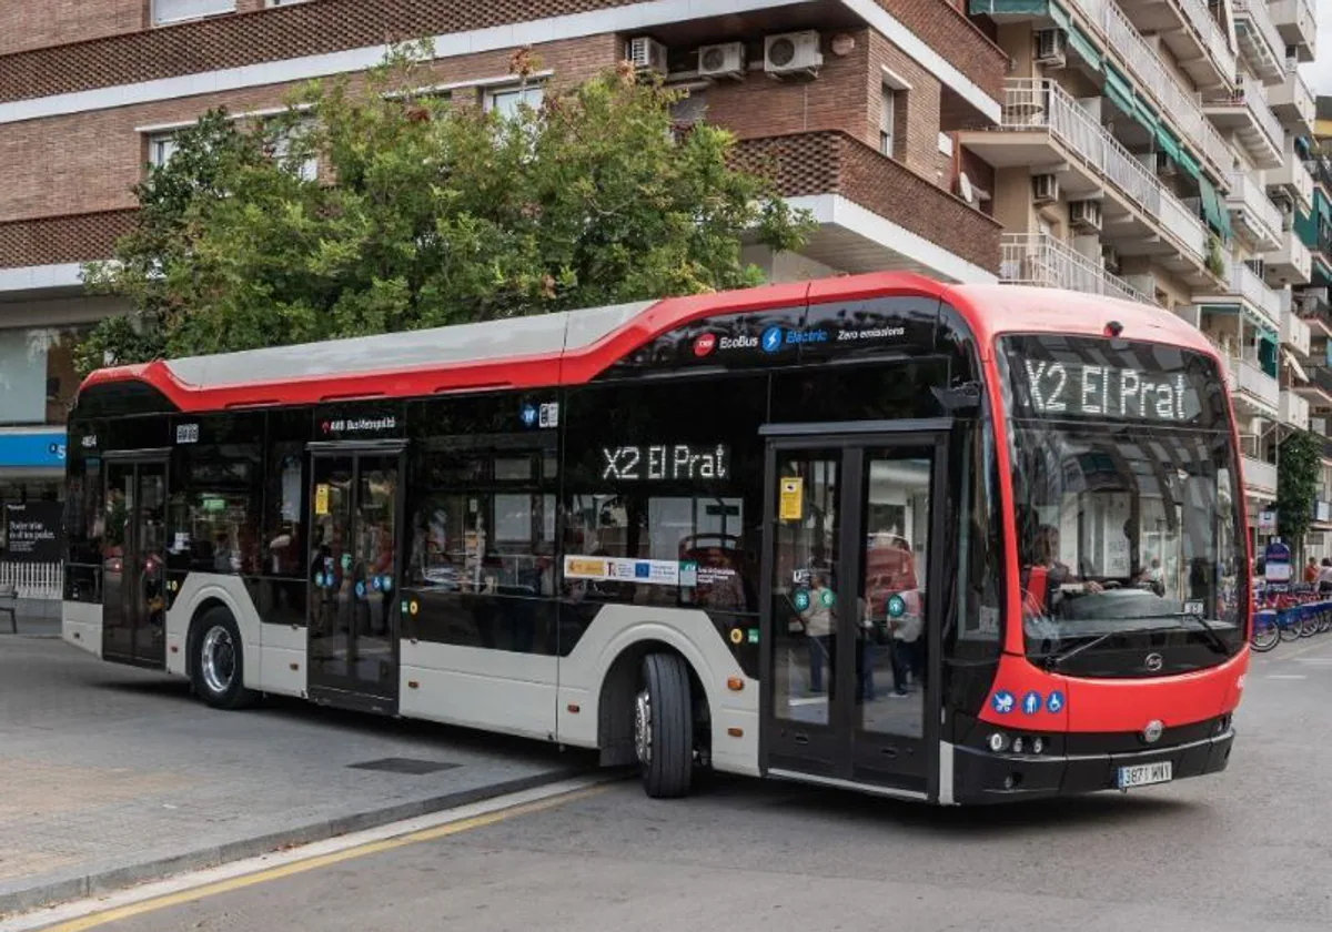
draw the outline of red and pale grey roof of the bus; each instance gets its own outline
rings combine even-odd
[[[887,296],[951,304],[987,354],[1000,333],[1100,336],[1110,321],[1123,325],[1126,340],[1215,354],[1201,333],[1159,308],[1047,288],[943,285],[912,273],[876,273],[117,366],[92,373],[80,390],[147,382],[180,410],[200,411],[578,385],[690,321]]]

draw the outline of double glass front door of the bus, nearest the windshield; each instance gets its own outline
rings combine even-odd
[[[936,792],[946,450],[942,431],[769,441],[765,772]]]

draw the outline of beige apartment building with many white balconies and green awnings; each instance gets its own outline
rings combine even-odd
[[[1228,361],[1255,543],[1275,533],[1277,443],[1311,423],[1317,274],[1301,218],[1315,100],[1311,0],[968,0],[1014,61],[994,166],[1003,281],[1158,304]],[[1325,261],[1325,257],[1324,257]],[[1332,394],[1328,397],[1332,403]]]

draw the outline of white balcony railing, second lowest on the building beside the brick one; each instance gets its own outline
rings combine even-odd
[[[1051,132],[1083,165],[1110,181],[1148,217],[1159,218],[1183,252],[1199,260],[1207,256],[1207,232],[1193,212],[1055,81],[1008,79],[999,128]]]

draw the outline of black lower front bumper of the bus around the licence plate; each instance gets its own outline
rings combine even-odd
[[[1225,770],[1235,743],[1233,727],[1187,744],[1132,754],[1038,756],[952,748],[954,800],[962,804],[1068,796],[1119,790],[1120,768],[1171,763],[1169,782]],[[1155,784],[1160,786],[1160,783]]]

